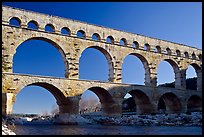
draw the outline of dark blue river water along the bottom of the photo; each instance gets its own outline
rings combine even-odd
[[[202,127],[108,126],[108,125],[16,125],[17,135],[202,135]]]

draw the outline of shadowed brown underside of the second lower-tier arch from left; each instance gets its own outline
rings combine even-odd
[[[103,115],[115,113],[114,107],[112,107],[115,102],[111,94],[106,89],[95,86],[88,88],[88,90],[94,92],[98,96],[101,102],[101,110]]]

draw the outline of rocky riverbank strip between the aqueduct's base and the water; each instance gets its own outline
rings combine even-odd
[[[57,122],[57,121],[58,122]],[[3,134],[15,134],[5,125],[55,125],[59,124],[57,116],[39,117],[12,117],[4,119],[2,123]],[[67,125],[116,125],[116,126],[201,126],[202,112],[192,112],[191,114],[154,114],[154,115],[122,115],[117,117],[105,117],[100,115],[71,115],[60,117],[60,122]],[[11,132],[10,132],[10,131]],[[13,130],[14,131],[14,130]]]

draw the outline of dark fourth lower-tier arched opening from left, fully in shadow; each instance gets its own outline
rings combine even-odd
[[[163,94],[158,101],[159,113],[180,113],[181,102],[179,98],[173,93]]]

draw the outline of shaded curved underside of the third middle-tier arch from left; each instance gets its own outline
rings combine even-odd
[[[143,55],[141,55],[141,54],[139,54],[139,53],[130,53],[130,54],[128,54],[128,55],[133,55],[133,56],[139,58],[139,60],[140,60],[140,61],[142,62],[142,64],[143,64],[143,67],[144,67],[144,70],[145,70],[145,85],[150,84],[151,81],[150,81],[149,63],[148,63],[147,59],[145,58],[145,56],[143,56]],[[128,55],[126,55],[125,58],[126,58]],[[124,59],[125,59],[125,58],[124,58]],[[123,59],[122,64],[124,63],[124,59]]]

